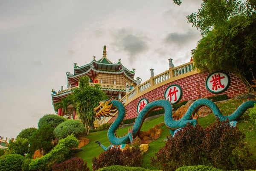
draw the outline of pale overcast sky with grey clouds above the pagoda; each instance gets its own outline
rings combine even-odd
[[[15,138],[54,113],[51,89],[66,72],[102,58],[121,58],[143,82],[189,62],[200,32],[187,23],[201,0],[8,0],[0,3],[0,136]]]

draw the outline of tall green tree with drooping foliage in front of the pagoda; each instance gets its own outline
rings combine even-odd
[[[79,80],[79,87],[73,89],[73,104],[76,107],[76,113],[86,126],[92,126],[95,119],[94,108],[99,105],[99,101],[106,98],[101,90],[100,84],[90,86],[90,78],[83,76]]]

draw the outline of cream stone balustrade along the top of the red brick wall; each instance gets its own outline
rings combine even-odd
[[[138,85],[129,93],[126,93],[126,95],[121,99],[121,102],[128,104],[155,88],[195,73],[198,73],[198,71],[195,69],[193,70],[193,62],[188,62],[178,67],[170,67],[169,70],[162,72],[159,75],[151,76],[149,80]]]

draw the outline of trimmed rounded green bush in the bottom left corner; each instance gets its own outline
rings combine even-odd
[[[0,157],[0,171],[21,171],[25,157],[20,154],[8,154]]]

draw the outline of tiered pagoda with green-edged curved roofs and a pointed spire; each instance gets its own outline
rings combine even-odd
[[[77,63],[75,63],[73,74],[66,72],[67,89],[63,90],[63,86],[58,92],[52,89],[53,107],[56,102],[61,101],[62,98],[66,98],[67,95],[73,93],[72,89],[78,87],[79,78],[85,75],[90,77],[90,83],[88,83],[90,86],[100,84],[102,87],[101,89],[108,96],[117,96],[118,99],[121,99],[129,92],[129,90],[137,85],[134,80],[135,69],[130,71],[125,68],[121,63],[121,59],[119,59],[116,64],[113,64],[107,58],[106,45],[103,48],[103,57],[98,61],[96,61],[95,58],[96,57],[93,56],[93,60],[89,64],[81,67],[77,66]],[[77,119],[72,105],[68,106],[67,113],[64,113],[64,110],[59,109],[58,115],[65,116],[67,119]]]

